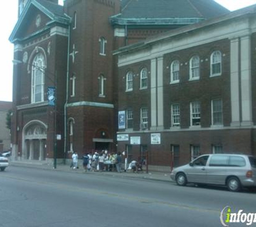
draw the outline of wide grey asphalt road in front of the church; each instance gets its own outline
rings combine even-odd
[[[256,212],[255,194],[10,166],[0,172],[0,227],[216,227],[227,205]]]

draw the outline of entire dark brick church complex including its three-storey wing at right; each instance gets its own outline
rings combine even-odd
[[[147,151],[152,167],[169,167],[199,153],[254,152],[254,8],[19,0],[12,155]]]

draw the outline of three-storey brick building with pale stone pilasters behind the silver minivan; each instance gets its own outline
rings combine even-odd
[[[256,154],[256,6],[120,48],[118,147],[177,166]],[[123,120],[124,119],[124,120]],[[153,167],[152,167],[153,168]]]

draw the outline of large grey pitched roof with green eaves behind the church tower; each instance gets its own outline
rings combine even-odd
[[[159,21],[168,18],[177,23],[178,20],[204,20],[230,12],[213,0],[121,0],[121,6],[121,13],[113,18],[129,23],[131,19]]]

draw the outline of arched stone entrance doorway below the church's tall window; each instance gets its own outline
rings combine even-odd
[[[26,124],[23,128],[23,159],[46,159],[46,125],[39,121]]]

